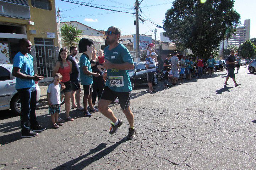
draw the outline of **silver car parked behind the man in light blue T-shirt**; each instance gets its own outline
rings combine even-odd
[[[15,89],[16,77],[12,76],[12,64],[0,64],[0,111],[11,109],[16,115],[20,115],[21,103],[18,92]],[[40,99],[40,88],[36,82],[37,101]]]

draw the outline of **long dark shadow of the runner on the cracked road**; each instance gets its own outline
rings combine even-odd
[[[124,137],[119,142],[116,142],[114,145],[109,146],[108,148],[105,148],[107,146],[106,143],[100,143],[96,148],[91,149],[89,151],[89,153],[86,153],[86,154],[84,154],[84,155],[82,155],[82,156],[80,156],[80,157],[78,157],[76,159],[72,159],[69,162],[66,162],[66,163],[64,163],[62,165],[59,165],[58,167],[54,168],[53,170],[64,170],[64,169],[68,169],[68,170],[70,170],[70,169],[82,170],[86,166],[92,164],[93,162],[95,162],[95,161],[105,157],[106,155],[108,155],[109,153],[114,151],[114,149],[117,148],[121,143],[124,143],[126,141],[128,141],[128,139],[126,137]],[[102,149],[104,149],[104,150],[99,152]],[[99,152],[99,153],[97,153],[96,155],[81,161],[82,159],[84,159],[84,158],[88,157],[89,155],[94,154],[96,152]]]

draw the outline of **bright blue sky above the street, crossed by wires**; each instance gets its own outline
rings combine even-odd
[[[76,0],[82,2],[89,2],[92,4],[105,5],[102,7],[111,8],[119,11],[126,11],[133,13],[135,0]],[[60,9],[61,21],[78,21],[89,27],[97,30],[106,30],[109,26],[116,26],[121,29],[121,34],[135,34],[134,20],[135,16],[130,13],[121,13],[107,11],[87,6],[80,6],[55,0],[56,9]],[[143,0],[140,7],[142,16],[150,19],[160,26],[163,25],[165,19],[165,12],[171,8],[173,0]],[[146,7],[147,6],[147,7]],[[241,23],[244,24],[245,19],[251,19],[250,38],[256,37],[256,0],[235,0],[234,8],[240,13]],[[71,8],[74,8],[70,10]],[[67,10],[67,11],[65,11]],[[112,13],[113,12],[113,13]],[[150,30],[155,29],[155,25],[145,21],[140,23],[140,34],[153,35]],[[160,40],[160,32],[164,30],[157,29],[157,39]]]

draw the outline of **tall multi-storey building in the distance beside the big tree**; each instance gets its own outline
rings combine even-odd
[[[236,27],[236,32],[228,39],[228,45],[240,45],[250,39],[251,19],[245,19],[243,25]]]

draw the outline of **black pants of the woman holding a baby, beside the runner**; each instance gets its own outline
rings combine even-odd
[[[93,84],[92,84],[92,104],[94,105],[96,102],[96,98],[98,95],[98,100],[101,97],[102,91],[104,89],[104,80],[102,76],[99,77],[92,77]]]

